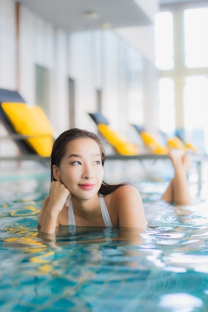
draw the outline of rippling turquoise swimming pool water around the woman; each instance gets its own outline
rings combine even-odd
[[[166,179],[141,175],[148,229],[137,240],[118,228],[66,227],[54,240],[36,228],[49,172],[19,172],[0,177],[1,312],[208,311],[207,201],[153,204]]]

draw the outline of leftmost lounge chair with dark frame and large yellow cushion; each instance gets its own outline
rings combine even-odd
[[[16,91],[0,89],[0,122],[8,132],[0,139],[13,140],[21,153],[0,160],[48,160],[54,131],[40,107],[29,107]]]

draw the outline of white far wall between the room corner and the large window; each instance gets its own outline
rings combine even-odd
[[[143,123],[142,54],[111,30],[72,33],[69,40],[77,127],[96,131],[87,113],[96,112],[97,88],[103,92],[102,113],[114,129],[125,134],[130,123]]]

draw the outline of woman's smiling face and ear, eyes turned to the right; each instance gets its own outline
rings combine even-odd
[[[75,197],[83,200],[97,194],[103,180],[100,148],[91,138],[79,138],[66,145],[60,166],[53,165],[53,176]]]

